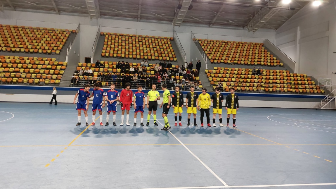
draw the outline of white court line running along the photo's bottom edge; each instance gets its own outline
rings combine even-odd
[[[259,188],[259,187],[322,186],[322,185],[336,185],[336,183],[275,184],[275,185],[245,185],[245,186],[200,186],[200,187],[142,188],[142,189]]]

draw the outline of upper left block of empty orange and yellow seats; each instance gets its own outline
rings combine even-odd
[[[70,33],[76,30],[0,24],[3,52],[59,54]]]

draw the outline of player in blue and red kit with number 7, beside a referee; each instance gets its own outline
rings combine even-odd
[[[133,104],[134,104],[134,126],[136,126],[136,115],[138,112],[141,113],[141,123],[140,125],[143,126],[143,109],[145,108],[145,93],[142,91],[142,86],[137,86],[138,91],[134,93],[133,96]]]

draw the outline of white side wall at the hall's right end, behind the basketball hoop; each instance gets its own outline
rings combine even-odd
[[[275,35],[276,45],[297,62],[295,72],[332,78],[336,82],[336,6],[310,4],[282,25]]]

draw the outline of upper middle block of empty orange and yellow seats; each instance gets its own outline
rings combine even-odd
[[[170,43],[172,37],[104,33],[102,57],[177,61]]]

